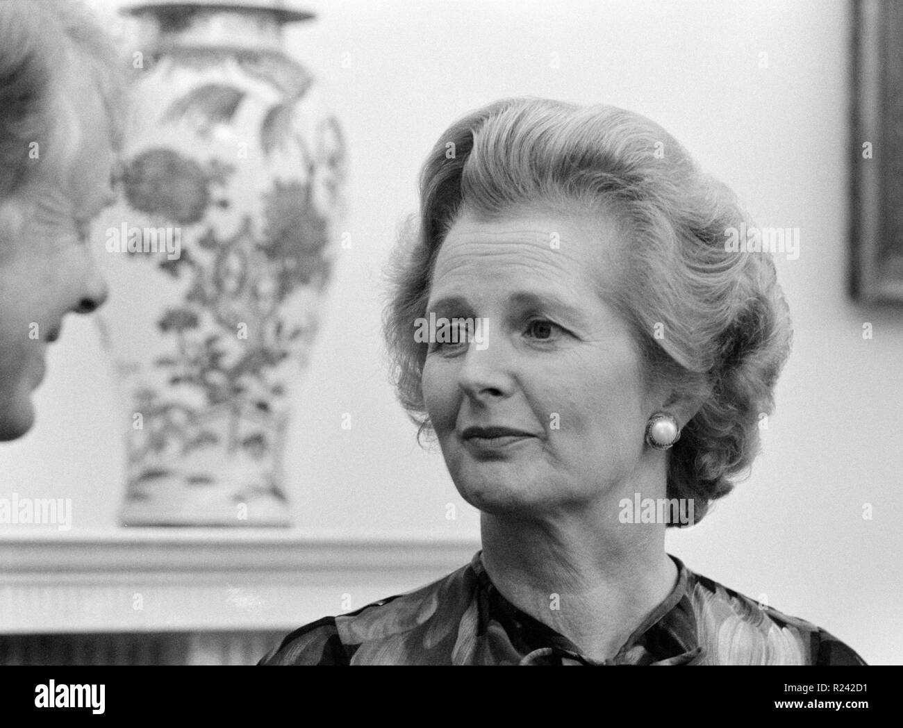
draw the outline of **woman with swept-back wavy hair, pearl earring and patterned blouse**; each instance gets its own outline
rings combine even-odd
[[[731,192],[645,117],[508,99],[442,134],[421,196],[387,340],[482,550],[262,662],[864,664],[665,552],[749,469],[790,347]]]

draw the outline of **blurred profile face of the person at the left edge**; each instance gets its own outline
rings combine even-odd
[[[33,425],[31,395],[63,316],[88,313],[107,297],[88,252],[88,224],[109,201],[113,151],[100,99],[87,84],[79,93],[84,133],[68,169],[29,188],[27,206],[5,201],[22,214],[21,225],[0,216],[0,441]],[[54,168],[51,150],[38,150]]]

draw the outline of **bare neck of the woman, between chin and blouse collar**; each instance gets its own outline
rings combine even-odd
[[[664,524],[597,515],[583,509],[538,520],[484,512],[480,531],[483,564],[498,591],[601,660],[614,657],[671,593],[677,567],[665,553]]]

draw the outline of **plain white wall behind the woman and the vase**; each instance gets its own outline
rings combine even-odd
[[[303,5],[320,17],[293,29],[290,47],[330,88],[347,131],[353,247],[297,396],[287,468],[298,528],[478,535],[477,514],[441,455],[417,447],[386,384],[380,268],[399,219],[414,210],[419,164],[452,118],[511,95],[605,101],[669,129],[761,225],[801,229],[799,258],[777,257],[796,342],[765,452],[703,524],[670,536],[670,550],[815,621],[869,662],[903,661],[903,312],[870,310],[845,293],[847,158],[860,141],[847,117],[847,4]],[[863,322],[874,327],[871,341]],[[49,364],[39,424],[0,445],[0,490],[70,497],[74,528],[113,527],[124,463],[111,370],[92,324],[68,322]],[[340,428],[345,412],[350,431]]]

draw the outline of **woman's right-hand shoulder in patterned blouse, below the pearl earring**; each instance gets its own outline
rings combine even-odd
[[[700,662],[738,665],[865,665],[855,650],[815,623],[689,572],[687,595],[703,646]]]

